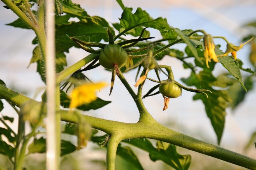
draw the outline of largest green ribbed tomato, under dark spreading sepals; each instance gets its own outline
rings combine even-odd
[[[115,63],[121,68],[126,60],[127,53],[118,44],[107,44],[100,52],[99,63],[107,69],[114,69]]]

